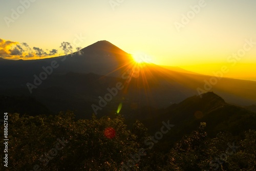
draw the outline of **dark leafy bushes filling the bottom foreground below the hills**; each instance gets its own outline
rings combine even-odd
[[[1,170],[256,170],[253,130],[239,136],[219,132],[209,138],[207,123],[202,122],[175,144],[166,137],[164,142],[145,143],[151,136],[146,127],[136,121],[127,129],[121,116],[76,120],[72,112],[15,113],[8,119],[9,163]],[[172,133],[164,136],[171,139]]]

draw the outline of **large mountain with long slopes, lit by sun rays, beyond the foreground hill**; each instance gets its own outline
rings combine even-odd
[[[199,75],[153,63],[137,65],[131,54],[105,40],[81,53],[38,60],[1,59],[0,95],[31,96],[54,113],[71,110],[78,118],[91,117],[92,105],[99,106],[99,97],[104,98],[119,82],[123,88],[97,111],[99,115],[114,114],[122,103],[123,114],[130,116],[148,106],[166,108],[208,91],[228,103],[256,104],[255,81]]]

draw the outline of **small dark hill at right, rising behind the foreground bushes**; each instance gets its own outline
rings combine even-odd
[[[141,121],[153,134],[161,126],[162,121],[169,120],[175,124],[172,129],[172,136],[175,137],[173,142],[196,130],[200,122],[206,123],[205,131],[210,137],[215,137],[219,132],[242,135],[249,129],[256,129],[255,112],[228,104],[214,92],[205,93],[202,98],[189,97],[155,113],[155,117],[150,116]]]

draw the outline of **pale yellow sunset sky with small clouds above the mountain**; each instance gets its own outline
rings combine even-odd
[[[256,80],[256,1],[1,1],[0,57],[64,54],[62,42],[87,47],[108,40],[158,65]],[[236,54],[239,54],[236,56]]]

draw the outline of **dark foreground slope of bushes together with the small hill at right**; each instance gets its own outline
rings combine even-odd
[[[72,112],[34,117],[9,113],[8,168],[255,170],[256,113],[229,105],[212,92],[162,112],[145,125],[138,120],[126,125],[121,115],[77,120]],[[220,158],[224,153],[227,157]]]

